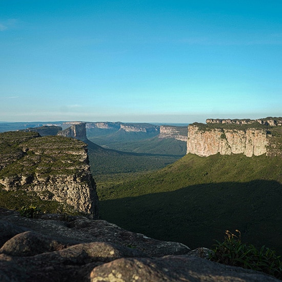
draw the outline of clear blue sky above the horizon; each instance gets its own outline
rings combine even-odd
[[[281,115],[281,0],[0,0],[2,121]]]

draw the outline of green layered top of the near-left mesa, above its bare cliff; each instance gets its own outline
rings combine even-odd
[[[86,146],[83,142],[62,136],[35,137],[38,134],[34,132],[0,134],[0,150],[4,152],[0,160],[5,163],[0,177],[64,175],[81,166],[81,156],[76,152]]]

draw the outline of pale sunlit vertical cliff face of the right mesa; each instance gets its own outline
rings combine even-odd
[[[245,123],[244,123],[245,124]],[[268,154],[270,132],[264,128],[204,128],[188,126],[187,153],[199,156],[245,154],[248,157]]]

